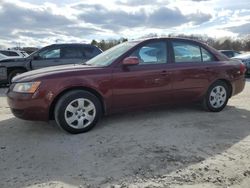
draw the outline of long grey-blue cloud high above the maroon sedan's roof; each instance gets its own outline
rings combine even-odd
[[[82,8],[79,19],[84,22],[99,25],[102,28],[120,31],[124,28],[171,28],[184,23],[192,22],[194,25],[202,24],[211,18],[209,14],[195,13],[184,15],[178,8],[157,8],[152,12],[140,8],[135,12],[122,9],[108,10],[100,5],[78,5]],[[85,9],[84,9],[85,7]]]

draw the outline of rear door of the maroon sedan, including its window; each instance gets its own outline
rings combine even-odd
[[[197,43],[175,39],[171,42],[173,73],[173,100],[176,102],[199,99],[213,78],[210,65],[215,57]]]

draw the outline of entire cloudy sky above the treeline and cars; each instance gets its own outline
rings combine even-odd
[[[0,46],[250,34],[250,0],[0,0]]]

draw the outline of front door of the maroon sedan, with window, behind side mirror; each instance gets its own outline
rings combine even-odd
[[[139,58],[139,65],[118,64],[113,71],[114,109],[158,105],[171,100],[167,54],[166,41],[151,41],[129,55]]]

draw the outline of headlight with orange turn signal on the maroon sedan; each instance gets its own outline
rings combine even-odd
[[[17,93],[35,93],[41,82],[16,83],[13,91]]]

